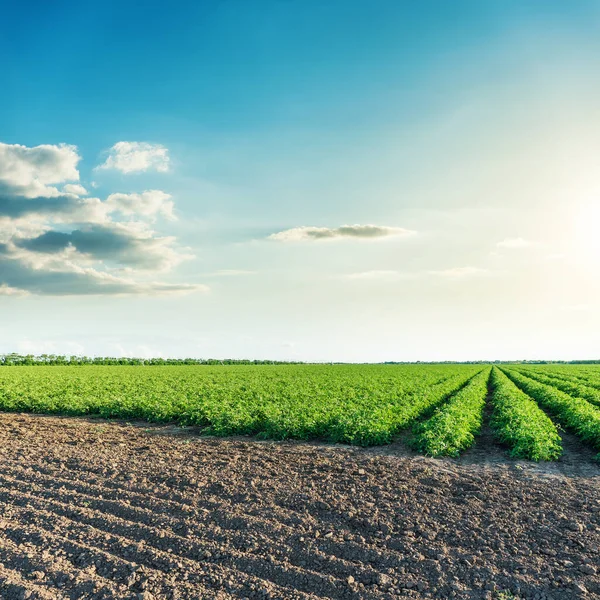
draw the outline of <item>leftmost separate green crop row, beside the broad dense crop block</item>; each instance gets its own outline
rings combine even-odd
[[[429,419],[415,425],[413,447],[428,456],[458,456],[472,446],[481,429],[489,374],[490,369],[482,370]]]

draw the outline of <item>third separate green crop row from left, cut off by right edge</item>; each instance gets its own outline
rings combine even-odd
[[[597,407],[513,369],[502,370],[517,387],[548,409],[563,427],[600,450],[600,410]]]

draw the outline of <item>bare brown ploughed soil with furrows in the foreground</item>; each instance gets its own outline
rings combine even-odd
[[[0,598],[600,598],[600,469],[0,414]]]

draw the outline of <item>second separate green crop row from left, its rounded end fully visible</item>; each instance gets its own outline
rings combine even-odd
[[[557,459],[562,453],[560,436],[544,411],[496,367],[490,383],[490,426],[498,440],[510,448],[510,455],[538,461]]]

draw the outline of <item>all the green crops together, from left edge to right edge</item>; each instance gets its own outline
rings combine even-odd
[[[19,367],[0,370],[0,410],[364,446],[402,434],[430,456],[458,456],[485,426],[514,457],[555,460],[561,428],[600,450],[600,367]]]

